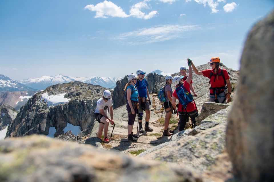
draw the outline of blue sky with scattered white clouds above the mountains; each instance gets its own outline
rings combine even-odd
[[[0,74],[119,77],[179,72],[218,56],[239,69],[251,27],[273,0],[1,0]]]

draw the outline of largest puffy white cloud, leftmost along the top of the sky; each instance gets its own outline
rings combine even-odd
[[[86,5],[84,9],[96,11],[94,18],[108,18],[108,16],[126,18],[129,16],[123,11],[121,7],[118,7],[111,1],[104,1],[102,3],[98,3],[95,6],[92,4]]]

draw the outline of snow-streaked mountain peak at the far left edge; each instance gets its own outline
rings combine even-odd
[[[0,92],[16,92],[26,90],[35,91],[36,89],[29,88],[5,75],[0,75]]]

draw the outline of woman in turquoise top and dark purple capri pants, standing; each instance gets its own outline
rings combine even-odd
[[[133,124],[136,118],[138,108],[138,90],[135,86],[137,82],[137,76],[134,74],[128,75],[128,83],[125,86],[126,91],[126,110],[128,111],[128,141],[136,142],[139,138],[138,135],[134,135],[132,132]]]

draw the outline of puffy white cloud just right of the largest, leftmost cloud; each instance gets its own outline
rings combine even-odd
[[[157,11],[151,11],[146,15],[144,12],[141,11],[142,8],[150,9],[146,2],[139,2],[131,7],[130,16],[134,16],[136,18],[144,18],[145,20],[147,20],[157,14]]]

